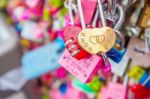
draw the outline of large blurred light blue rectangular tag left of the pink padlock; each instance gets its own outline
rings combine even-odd
[[[52,43],[26,52],[22,57],[24,76],[32,79],[59,68],[58,59],[63,48],[63,41],[57,38]]]

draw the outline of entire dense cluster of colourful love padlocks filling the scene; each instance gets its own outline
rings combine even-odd
[[[15,28],[23,75],[42,99],[150,99],[149,5],[0,0],[0,18]]]

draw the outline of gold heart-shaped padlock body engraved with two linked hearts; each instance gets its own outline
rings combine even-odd
[[[108,52],[115,44],[116,34],[110,27],[83,29],[78,35],[82,48],[91,54]]]

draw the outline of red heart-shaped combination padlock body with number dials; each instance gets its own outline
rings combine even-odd
[[[82,59],[89,54],[78,44],[78,34],[81,31],[79,26],[68,26],[64,29],[63,36],[66,48],[76,59]]]

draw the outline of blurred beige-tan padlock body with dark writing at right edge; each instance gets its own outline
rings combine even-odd
[[[150,67],[150,53],[145,53],[145,43],[143,40],[132,37],[128,44],[127,55],[132,59],[131,67],[137,64],[144,68]]]

